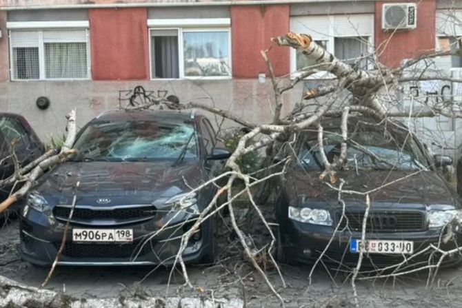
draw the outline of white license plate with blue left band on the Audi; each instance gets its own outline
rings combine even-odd
[[[361,240],[350,241],[350,252],[359,253]],[[363,252],[369,254],[412,254],[414,253],[414,242],[412,240],[365,240]]]

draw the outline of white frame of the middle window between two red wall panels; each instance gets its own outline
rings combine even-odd
[[[154,72],[152,72],[152,31],[153,30],[177,30],[178,32],[178,68],[179,68],[179,78],[156,78],[154,77]],[[185,76],[184,72],[184,41],[183,33],[185,32],[228,32],[228,54],[229,54],[229,67],[230,75],[229,76]],[[231,28],[229,26],[219,27],[219,26],[200,26],[195,25],[194,27],[157,27],[150,26],[148,28],[148,44],[149,44],[149,72],[150,80],[152,81],[169,81],[169,80],[180,80],[180,79],[201,79],[201,80],[219,80],[219,79],[232,79],[232,47],[231,47]]]

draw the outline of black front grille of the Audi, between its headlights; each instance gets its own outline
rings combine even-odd
[[[352,231],[361,231],[364,212],[346,212],[348,227]],[[341,213],[337,214],[337,223]],[[340,227],[346,227],[343,218]],[[366,232],[418,232],[425,230],[425,216],[421,212],[370,212],[366,223]]]

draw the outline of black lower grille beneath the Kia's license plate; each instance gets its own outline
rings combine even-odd
[[[61,243],[55,243],[54,247],[59,249]],[[140,251],[141,249],[141,251]],[[151,251],[149,243],[141,248],[135,243],[127,244],[80,244],[66,243],[62,252],[63,256],[69,258],[128,258],[134,259],[135,256],[144,256]]]

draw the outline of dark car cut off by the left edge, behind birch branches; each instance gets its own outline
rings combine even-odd
[[[34,161],[45,151],[39,137],[23,116],[0,113],[0,180],[14,173],[12,144],[21,166]],[[12,185],[0,186],[0,202],[8,197],[12,188]]]

